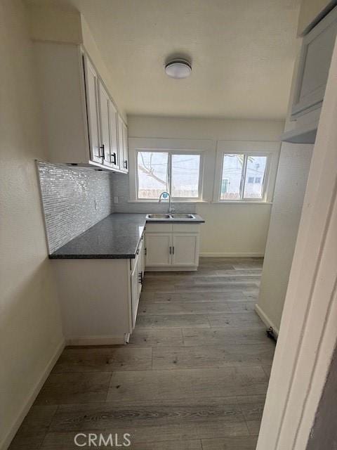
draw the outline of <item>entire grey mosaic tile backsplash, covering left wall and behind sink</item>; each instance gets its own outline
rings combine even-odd
[[[168,204],[130,203],[128,175],[38,162],[49,252],[53,253],[112,212],[166,212]],[[113,203],[118,197],[118,203]],[[193,203],[172,203],[195,212]]]

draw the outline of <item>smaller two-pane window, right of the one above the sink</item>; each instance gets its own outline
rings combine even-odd
[[[220,201],[264,200],[267,155],[223,153]]]

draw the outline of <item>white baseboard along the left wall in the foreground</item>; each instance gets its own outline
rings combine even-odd
[[[37,398],[37,394],[39,394],[41,387],[44,385],[44,382],[48,378],[49,373],[51,373],[51,370],[53,366],[55,366],[56,361],[58,361],[58,358],[60,354],[63,352],[63,349],[65,348],[65,340],[62,340],[58,347],[56,347],[55,352],[53,353],[53,356],[51,356],[51,359],[49,359],[48,364],[46,365],[46,368],[44,369],[44,372],[41,374],[41,377],[37,381],[37,383],[34,385],[33,389],[29,392],[27,395],[27,398],[24,401],[24,404],[22,406],[22,409],[20,413],[18,414],[18,417],[15,419],[14,423],[11,425],[11,429],[8,430],[7,435],[4,437],[4,439],[0,442],[0,450],[6,450],[8,449],[8,446],[11,444],[13,437],[15,436],[15,433],[20,428],[20,425],[27,416],[27,413],[29,409],[32,407],[32,404],[34,403],[34,400]]]

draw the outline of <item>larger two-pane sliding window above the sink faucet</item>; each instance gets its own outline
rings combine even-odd
[[[163,191],[176,199],[201,198],[201,154],[137,152],[137,198],[158,200]]]

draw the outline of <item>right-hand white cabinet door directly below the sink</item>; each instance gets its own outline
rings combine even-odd
[[[199,264],[199,235],[173,233],[172,265],[197,266]]]

